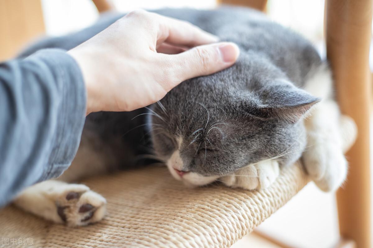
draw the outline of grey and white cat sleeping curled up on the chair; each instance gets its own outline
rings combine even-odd
[[[105,198],[68,182],[157,161],[189,186],[221,181],[247,190],[267,188],[281,168],[300,158],[321,190],[342,184],[343,151],[356,128],[340,114],[330,70],[310,42],[251,9],[155,12],[235,42],[238,61],[181,83],[146,108],[88,115],[70,168],[57,180],[24,190],[14,201],[18,207],[69,226],[94,223],[104,216]],[[118,18],[107,14],[82,31],[37,42],[19,57],[42,48],[69,50]]]

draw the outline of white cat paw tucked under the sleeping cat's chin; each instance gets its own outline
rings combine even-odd
[[[280,173],[279,164],[274,160],[265,160],[245,166],[235,172],[220,178],[227,186],[244,188],[246,190],[258,190],[268,188]]]

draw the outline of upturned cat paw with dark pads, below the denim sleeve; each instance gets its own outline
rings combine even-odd
[[[58,188],[58,191],[53,193],[56,195],[56,211],[66,225],[85,226],[104,217],[105,198],[91,191],[87,186],[66,184],[64,187]]]

